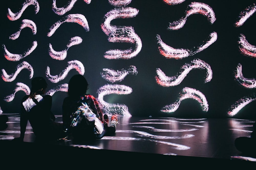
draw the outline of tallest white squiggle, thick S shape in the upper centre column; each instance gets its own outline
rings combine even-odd
[[[105,52],[107,59],[130,59],[138,55],[142,48],[140,37],[134,32],[133,27],[115,26],[110,24],[116,18],[132,18],[138,14],[138,9],[131,7],[115,8],[105,15],[105,22],[101,24],[102,31],[108,35],[109,42],[124,42],[136,44],[135,48],[127,50],[109,50]]]

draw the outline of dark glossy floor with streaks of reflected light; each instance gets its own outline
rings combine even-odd
[[[80,152],[120,155],[120,160],[123,161],[148,159],[148,163],[157,159],[167,159],[173,163],[192,160],[194,163],[256,162],[255,156],[243,155],[234,146],[237,137],[250,136],[255,122],[252,120],[121,116],[118,117],[119,124],[113,136],[83,142],[76,142],[72,138],[62,142],[37,142],[28,124],[24,142],[20,144],[12,142],[13,138],[19,137],[19,114],[5,115],[8,116],[8,127],[0,131],[0,144],[1,150],[4,149],[10,155],[20,155],[19,152],[24,154],[28,148],[34,151],[40,148],[41,152],[53,152],[51,155],[57,153],[55,159],[61,157],[61,154],[75,155]],[[62,117],[56,116],[56,121],[61,122]]]

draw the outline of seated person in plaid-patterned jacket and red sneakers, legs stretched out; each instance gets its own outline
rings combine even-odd
[[[63,100],[62,104],[62,120],[63,125],[67,129],[68,133],[71,133],[74,138],[86,138],[95,139],[95,132],[92,128],[72,128],[70,116],[75,112],[83,98],[83,102],[86,102],[91,111],[96,115],[96,119],[99,119],[104,124],[104,133],[98,138],[102,138],[106,135],[115,133],[116,125],[118,124],[117,116],[112,115],[111,125],[108,126],[108,115],[102,113],[98,101],[90,94],[87,94],[88,82],[83,75],[77,74],[71,77],[68,83],[68,97]]]

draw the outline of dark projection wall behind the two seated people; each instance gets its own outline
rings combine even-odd
[[[66,0],[56,1],[58,8],[65,7],[69,3]],[[133,0],[126,6],[117,7],[110,3],[115,1],[91,0],[87,4],[78,0],[63,15],[57,15],[52,10],[53,1],[38,0],[37,2],[40,7],[37,14],[35,13],[35,5],[29,5],[24,8],[21,17],[13,21],[7,18],[8,8],[14,13],[19,12],[26,1],[10,0],[1,5],[1,43],[10,54],[3,48],[0,64],[1,69],[4,69],[10,77],[14,77],[9,82],[4,81],[4,78],[0,80],[0,108],[3,112],[20,111],[20,100],[26,93],[22,90],[24,89],[23,85],[20,87],[20,84],[17,85],[17,83],[22,83],[30,88],[30,78],[42,76],[49,84],[47,90],[57,89],[52,94],[52,111],[55,114],[61,114],[62,101],[67,96],[67,89],[66,86],[59,87],[67,84],[74,74],[83,74],[90,85],[88,93],[95,98],[104,96],[103,99],[107,103],[102,100],[99,102],[105,113],[111,114],[114,112],[113,110],[116,110],[118,114],[122,115],[124,114],[122,109],[127,107],[128,110],[126,110],[125,115],[130,114],[132,116],[230,117],[228,116],[228,111],[230,111],[234,114],[231,116],[233,118],[255,118],[255,87],[249,88],[246,84],[248,81],[255,82],[255,57],[253,57],[253,52],[252,56],[242,54],[238,43],[240,34],[243,34],[251,47],[255,48],[256,16],[253,14],[253,1],[196,1],[209,5],[216,20],[210,23],[210,18],[207,18],[207,16],[212,17],[210,14],[192,14],[187,16],[184,26],[177,30],[167,30],[169,23],[184,18],[186,11],[190,10],[189,5],[194,1],[186,0],[180,4],[168,5],[161,0]],[[124,38],[128,37],[126,42],[119,42],[118,40],[109,42],[109,36],[103,32],[101,27],[106,19],[105,14],[111,10],[125,11],[129,7],[137,9],[138,14],[134,17],[117,18],[111,21],[112,26],[116,26],[117,29],[131,27],[130,32],[117,32],[113,35],[119,34]],[[246,8],[248,8],[247,12],[252,11],[252,15],[247,18],[243,25],[236,27],[234,23],[239,17],[241,18],[240,12]],[[64,21],[65,17],[70,14],[83,15],[88,22],[89,31],[79,23],[70,21],[63,22],[54,34],[47,36],[54,23]],[[10,35],[19,31],[20,24],[24,19],[31,20],[36,24],[36,34],[33,34],[31,28],[26,27],[21,29],[17,39],[9,39]],[[131,48],[132,52],[138,50],[140,42],[136,44],[136,41],[132,42],[129,39],[132,36],[129,33],[133,31],[142,44],[138,54],[125,59],[104,58],[105,52],[110,49],[127,50]],[[199,52],[198,47],[205,45],[210,40],[209,35],[213,32],[216,32],[217,40],[208,47],[204,46],[205,48]],[[187,49],[190,55],[181,59],[164,57],[158,48],[157,35],[167,46],[174,49]],[[82,42],[67,48],[70,39],[76,36],[80,37]],[[36,48],[25,56],[33,41],[37,42]],[[66,58],[63,60],[52,58],[48,51],[49,44],[57,52],[66,49]],[[11,56],[12,54],[19,54],[21,57],[17,61],[14,59],[12,61],[5,57],[6,54]],[[208,82],[205,83],[206,67],[195,68],[195,62],[193,62],[195,59],[209,65],[208,70],[211,70],[212,77]],[[65,71],[68,69],[68,62],[74,60],[79,61],[77,63],[82,63],[84,73],[71,66],[70,70]],[[32,67],[32,77],[30,77],[31,70],[18,69],[20,66],[24,66],[21,64],[24,61]],[[242,66],[244,77],[240,83],[236,81],[234,76],[239,63]],[[56,75],[62,79],[57,82],[48,79],[47,66],[50,68],[50,75]],[[184,72],[183,66],[187,66],[187,69],[191,67],[194,69],[188,71],[180,83],[174,83],[168,87],[157,84],[155,76],[158,75],[156,72],[158,68],[167,77],[173,78],[172,81],[174,81]],[[116,73],[127,73],[127,75],[119,81],[110,82],[102,76],[106,76],[103,69],[112,69]],[[242,86],[242,83],[246,85]],[[113,89],[107,89],[106,85],[110,85],[110,88]],[[102,90],[101,87],[103,87]],[[185,87],[192,90],[190,95],[187,95],[189,91],[182,93]],[[120,94],[122,90],[129,89],[132,91],[124,91],[124,94]],[[12,94],[14,98],[11,99],[10,95]],[[184,99],[180,97],[184,97]],[[177,105],[176,111],[161,111],[165,106],[177,101],[180,103]],[[241,105],[242,102],[243,105]],[[237,110],[235,110],[236,108]]]

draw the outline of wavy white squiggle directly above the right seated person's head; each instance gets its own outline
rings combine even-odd
[[[84,66],[83,64],[78,60],[72,60],[68,61],[68,66],[66,69],[64,69],[59,75],[51,75],[50,74],[50,68],[47,66],[46,69],[46,77],[48,80],[50,80],[52,83],[58,83],[59,81],[65,79],[68,72],[72,69],[76,69],[77,72],[81,75],[84,74]]]

